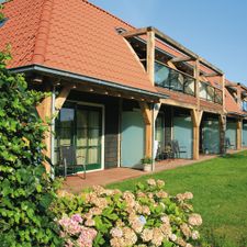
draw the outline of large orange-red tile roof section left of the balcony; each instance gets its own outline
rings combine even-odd
[[[156,92],[116,27],[133,27],[86,0],[13,0],[4,9],[0,49],[12,45],[9,67],[38,64]]]

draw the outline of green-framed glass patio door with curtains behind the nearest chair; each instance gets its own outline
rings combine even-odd
[[[56,121],[56,156],[60,146],[76,146],[78,165],[87,170],[102,168],[102,108],[66,103]],[[83,158],[82,158],[83,157]],[[81,171],[79,168],[78,172]]]

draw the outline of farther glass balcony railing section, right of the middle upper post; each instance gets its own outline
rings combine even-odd
[[[215,88],[206,82],[200,81],[200,98],[210,102],[214,102],[217,104],[223,103],[223,93],[222,90],[218,88]]]

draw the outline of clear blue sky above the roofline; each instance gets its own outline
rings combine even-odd
[[[136,27],[157,27],[247,86],[247,0],[89,1]]]

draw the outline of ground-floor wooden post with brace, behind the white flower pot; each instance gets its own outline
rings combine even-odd
[[[139,101],[139,108],[145,123],[145,156],[153,157],[153,112],[146,102]]]

